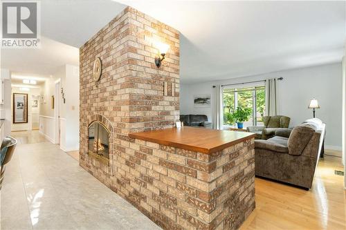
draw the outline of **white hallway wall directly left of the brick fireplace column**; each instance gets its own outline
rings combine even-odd
[[[60,141],[63,151],[76,151],[79,149],[79,68],[78,66],[64,65],[45,82],[42,95],[46,95],[47,103],[40,107],[39,130],[53,143]],[[64,88],[63,102],[61,90],[55,95],[55,84],[60,80],[61,88]],[[60,103],[60,118],[55,117],[55,109],[51,107],[51,96]],[[60,121],[60,137],[57,137],[56,121]]]

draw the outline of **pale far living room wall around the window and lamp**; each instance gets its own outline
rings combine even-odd
[[[208,119],[211,121],[213,104],[210,108],[194,108],[194,95],[212,95],[212,86],[215,84],[235,84],[274,77],[284,77],[284,80],[278,86],[280,99],[279,112],[281,115],[291,117],[290,126],[300,124],[305,119],[312,117],[312,111],[307,106],[309,105],[310,99],[316,97],[321,107],[316,111],[316,117],[322,119],[326,124],[327,135],[325,147],[341,150],[341,63],[284,70],[277,73],[204,82],[201,84],[181,84],[181,114],[205,114],[208,115]]]

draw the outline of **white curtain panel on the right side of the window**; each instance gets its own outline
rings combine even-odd
[[[277,79],[266,79],[266,115],[275,116],[278,113]]]

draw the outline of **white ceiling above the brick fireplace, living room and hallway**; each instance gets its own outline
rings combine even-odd
[[[1,65],[52,74],[61,61],[78,64],[77,48],[126,5],[181,32],[183,83],[316,66],[343,57],[345,1],[45,0],[42,45],[45,40],[47,45],[41,51],[2,50]]]

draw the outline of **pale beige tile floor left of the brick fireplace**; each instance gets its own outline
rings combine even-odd
[[[1,229],[160,229],[38,131],[12,135]]]

